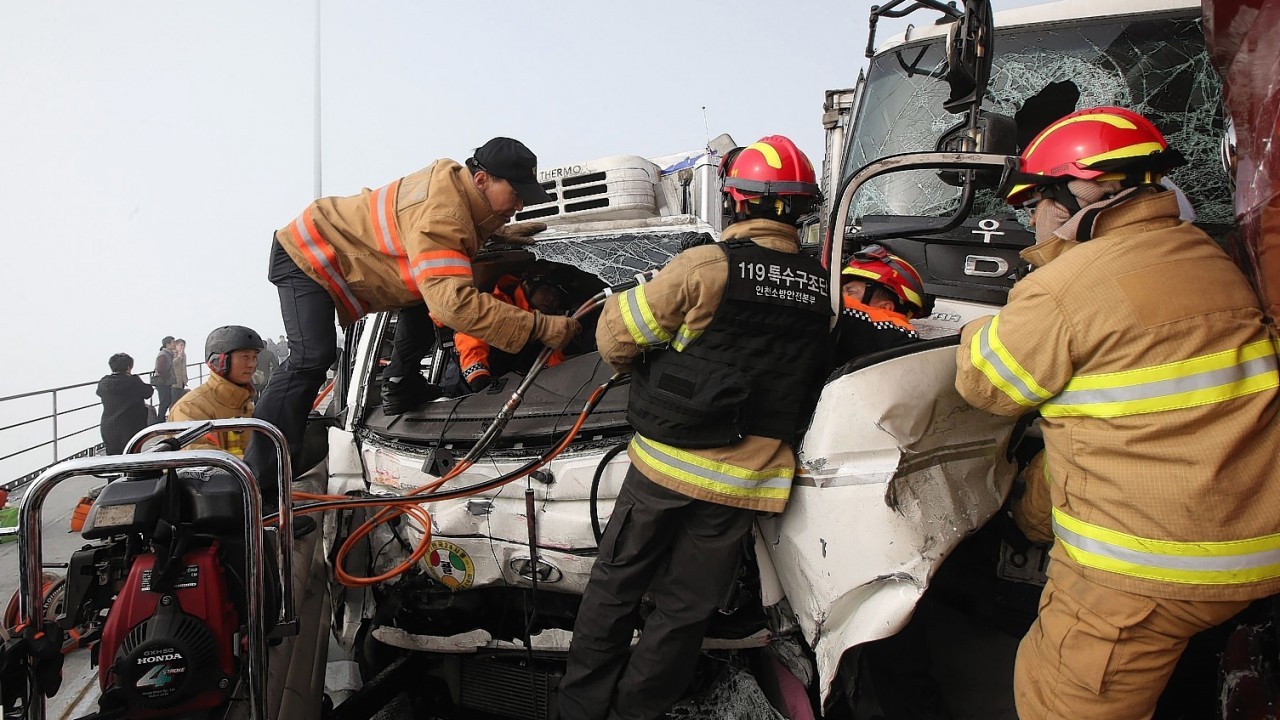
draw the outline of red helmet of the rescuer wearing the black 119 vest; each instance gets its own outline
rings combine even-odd
[[[721,160],[722,192],[735,206],[765,195],[804,196],[820,195],[813,163],[781,135],[769,135],[748,145],[730,150]]]

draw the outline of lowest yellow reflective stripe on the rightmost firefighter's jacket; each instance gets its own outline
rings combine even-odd
[[[1085,568],[1166,583],[1228,585],[1280,578],[1280,534],[1228,542],[1139,538],[1053,509],[1053,534]]]

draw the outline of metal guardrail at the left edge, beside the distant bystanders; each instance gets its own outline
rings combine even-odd
[[[206,369],[204,363],[188,363],[187,364],[187,375],[189,378],[188,386],[191,386],[192,379],[195,379],[196,386],[204,383],[205,372]],[[136,373],[136,374],[145,382],[150,383],[152,373]],[[99,428],[101,428],[100,414],[93,416],[92,420],[84,418],[83,414],[95,407],[101,407],[102,402],[96,401],[84,404],[83,397],[78,397],[83,396],[84,392],[87,392],[84,391],[84,388],[97,387],[97,383],[99,380],[91,380],[86,383],[60,386],[54,388],[37,389],[32,392],[23,392],[18,395],[10,395],[6,397],[0,397],[0,418],[3,418],[4,421],[9,423],[4,427],[0,427],[0,452],[4,452],[4,455],[0,455],[0,462],[17,459],[23,455],[28,455],[38,450],[49,448],[47,455],[45,455],[40,460],[32,460],[31,464],[27,465],[28,468],[31,468],[29,471],[26,471],[24,474],[12,480],[4,480],[4,478],[0,477],[0,480],[3,480],[0,482],[0,491],[13,492],[18,488],[22,488],[29,484],[36,478],[38,478],[41,473],[56,465],[58,462],[61,462],[63,460],[70,460],[76,457],[88,457],[92,455],[100,455],[102,452],[102,442],[97,437],[92,434],[90,434],[88,438],[82,437],[88,433],[93,433],[95,430],[99,430]],[[45,398],[47,405],[44,405],[40,398]],[[69,398],[72,398],[70,404],[76,405],[74,407],[65,407],[65,404],[68,402]],[[59,406],[60,400],[64,406]],[[49,409],[47,414],[41,414],[44,413],[44,409],[32,410],[31,407],[26,407],[27,413],[35,414],[36,416],[23,415],[22,406],[28,406],[31,404],[35,404],[33,405],[35,407],[47,407]],[[147,406],[150,406],[154,410],[155,400],[154,398],[147,400]],[[164,418],[159,418],[157,420],[164,421]],[[27,441],[18,441],[18,442],[27,442],[28,445],[26,445],[20,450],[9,451],[9,447],[12,446],[9,445],[9,442],[6,442],[6,436],[14,437],[17,434],[15,430],[20,430],[23,428],[35,428],[37,423],[45,424],[49,432],[44,433],[36,430],[37,433],[40,433],[38,438],[28,438]],[[76,429],[65,432],[68,430],[68,425],[72,425],[72,428]],[[69,443],[72,447],[74,447],[74,450],[68,451],[68,441],[76,441],[77,438],[79,438],[78,442]],[[84,442],[86,439],[88,442]],[[36,456],[32,455],[31,457]]]

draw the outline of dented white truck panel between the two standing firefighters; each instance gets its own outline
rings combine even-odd
[[[1012,484],[1014,419],[955,392],[955,352],[925,350],[828,383],[787,509],[760,520],[824,697],[845,650],[899,632]]]

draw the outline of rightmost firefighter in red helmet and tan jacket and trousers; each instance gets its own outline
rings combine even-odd
[[[961,333],[965,400],[1043,423],[1055,543],[1024,720],[1151,717],[1188,638],[1280,591],[1276,346],[1156,184],[1181,161],[1121,108],[1050,124],[1006,192],[1034,204],[1037,269]]]

